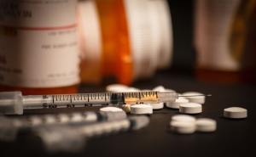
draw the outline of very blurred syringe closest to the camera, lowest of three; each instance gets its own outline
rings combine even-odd
[[[101,137],[119,132],[128,132],[148,126],[145,115],[129,117],[125,120],[104,121],[84,126],[56,126],[38,129],[38,136],[44,142],[48,153],[79,153],[91,137]]]

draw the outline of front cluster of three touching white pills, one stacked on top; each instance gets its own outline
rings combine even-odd
[[[216,128],[216,121],[209,118],[195,119],[192,115],[173,115],[170,121],[170,130],[181,134],[214,132]]]

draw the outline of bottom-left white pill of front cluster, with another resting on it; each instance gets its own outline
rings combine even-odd
[[[183,134],[189,134],[195,132],[195,123],[183,122],[183,121],[171,121],[171,131]]]

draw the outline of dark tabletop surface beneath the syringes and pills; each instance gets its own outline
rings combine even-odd
[[[134,132],[123,132],[108,137],[97,137],[87,141],[81,153],[47,154],[39,137],[31,134],[19,135],[14,143],[0,141],[1,156],[249,156],[255,154],[256,110],[255,85],[222,84],[200,81],[187,73],[160,72],[148,81],[137,81],[132,87],[152,89],[162,85],[177,93],[195,91],[211,93],[202,113],[196,118],[206,117],[217,121],[216,132],[189,135],[169,131],[172,115],[180,114],[177,109],[158,109],[152,115],[148,126]],[[81,85],[79,93],[104,92],[105,86]],[[241,107],[248,116],[241,120],[224,118],[224,109]],[[99,110],[99,107],[71,109],[31,109],[24,115],[71,113],[79,110]],[[20,115],[20,116],[24,116]],[[128,117],[133,116],[129,115]]]

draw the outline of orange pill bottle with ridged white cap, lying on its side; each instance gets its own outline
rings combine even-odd
[[[172,64],[166,0],[79,1],[79,31],[82,83],[99,84],[114,76],[131,85]]]

